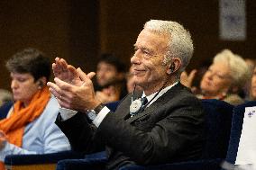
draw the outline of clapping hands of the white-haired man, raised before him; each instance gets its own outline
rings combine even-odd
[[[54,83],[48,82],[50,93],[59,101],[64,108],[86,112],[94,109],[100,102],[96,99],[92,77],[96,74],[86,74],[80,68],[68,65],[62,58],[56,58],[52,64]]]

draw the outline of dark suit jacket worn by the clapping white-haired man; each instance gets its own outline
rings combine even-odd
[[[142,93],[135,95],[141,97]],[[97,129],[81,112],[68,121],[57,120],[56,123],[75,150],[88,153],[106,146],[108,169],[201,157],[205,112],[197,97],[185,86],[175,85],[132,118],[129,115],[131,97],[132,94],[125,97],[116,112],[108,113]]]

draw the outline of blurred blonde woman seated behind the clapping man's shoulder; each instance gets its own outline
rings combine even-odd
[[[208,67],[200,83],[201,94],[197,96],[203,99],[224,100],[233,105],[244,103],[239,94],[249,79],[250,70],[244,59],[233,54],[231,50],[224,49],[215,56],[213,64]],[[186,81],[191,80],[181,80]],[[186,85],[189,87],[191,84],[189,82]]]

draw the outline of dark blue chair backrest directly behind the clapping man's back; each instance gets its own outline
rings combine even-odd
[[[206,110],[206,146],[203,158],[224,158],[230,137],[233,105],[215,99],[201,101]]]

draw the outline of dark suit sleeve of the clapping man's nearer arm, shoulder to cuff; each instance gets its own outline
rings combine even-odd
[[[195,97],[171,101],[151,112],[160,115],[156,118],[159,121],[138,120],[138,124],[148,129],[122,121],[117,114],[108,114],[98,131],[107,145],[122,151],[137,164],[172,162],[175,157],[189,159],[201,153],[204,113]]]

